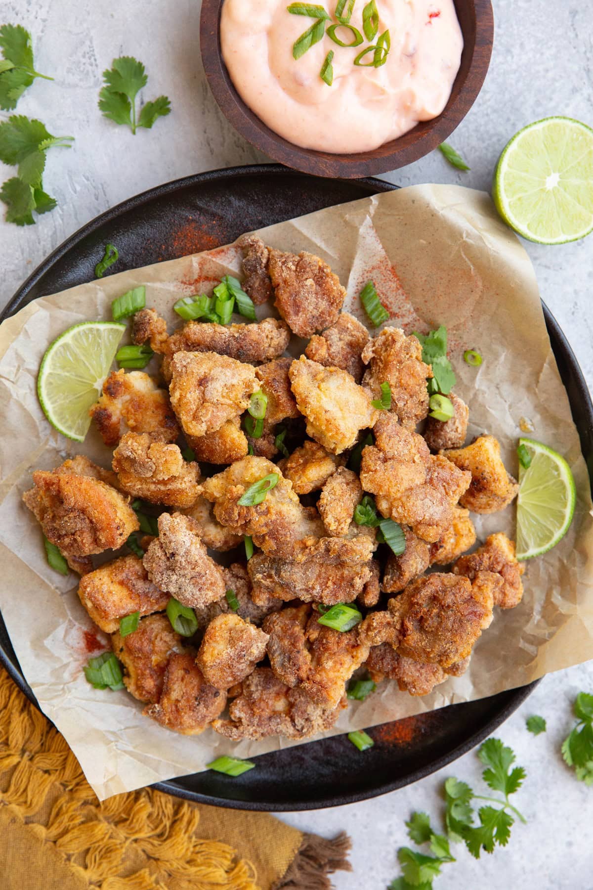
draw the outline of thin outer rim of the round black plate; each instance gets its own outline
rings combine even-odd
[[[16,312],[22,305],[27,302],[27,296],[36,285],[36,282],[43,277],[46,271],[51,269],[54,263],[60,260],[64,255],[68,254],[68,251],[72,247],[75,247],[78,242],[80,242],[88,235],[92,234],[93,231],[98,230],[104,223],[108,223],[109,221],[115,219],[118,215],[124,214],[125,212],[130,211],[134,208],[140,207],[143,204],[150,202],[154,198],[162,198],[166,195],[172,194],[172,192],[175,192],[177,190],[185,190],[190,187],[200,185],[202,183],[216,182],[217,180],[228,182],[229,180],[233,180],[243,176],[255,177],[258,175],[266,175],[274,177],[287,174],[298,176],[301,177],[303,180],[309,181],[315,180],[317,178],[310,176],[309,174],[288,170],[286,167],[276,164],[236,166],[226,169],[223,168],[219,170],[206,171],[202,174],[193,174],[179,180],[166,182],[163,185],[156,186],[155,188],[146,190],[139,195],[124,200],[120,204],[110,208],[105,213],[100,214],[100,216],[95,217],[91,222],[84,224],[84,226],[82,226],[78,231],[76,231],[68,239],[66,239],[60,245],[60,247],[54,250],[52,254],[49,255],[44,260],[44,262],[36,268],[35,271],[33,271],[33,273],[28,277],[28,279],[12,297],[12,300],[4,308],[4,311],[0,313],[0,321],[6,319],[13,312]],[[365,184],[365,186],[373,189],[374,191],[389,191],[396,188],[389,182],[385,182],[384,180],[376,179],[373,177],[366,177],[365,179],[360,180],[349,180],[347,182],[352,185],[355,185],[357,182],[360,184]],[[550,336],[552,337],[552,340],[555,341],[555,344],[557,344],[557,346],[559,347],[559,352],[562,353],[562,357],[565,361],[566,366],[570,368],[573,386],[576,389],[576,392],[574,394],[581,401],[583,413],[587,417],[587,424],[580,425],[583,450],[587,453],[592,453],[593,445],[591,443],[593,443],[593,404],[591,404],[587,384],[585,383],[585,380],[582,376],[581,368],[579,367],[578,362],[573,355],[573,351],[568,344],[561,328],[559,328],[557,321],[554,319],[551,312],[549,312],[549,309],[545,305],[545,303],[542,303],[542,308]],[[589,449],[584,448],[585,442],[589,444]],[[20,667],[17,667],[18,662],[16,664],[13,663],[12,659],[8,656],[7,652],[4,651],[1,644],[0,662],[2,662],[9,675],[12,677],[12,680],[19,686],[20,690],[28,696],[28,699],[31,700],[36,705],[36,707],[38,707],[35,695],[28,686],[24,676],[22,676],[22,674],[20,673]],[[235,797],[216,797],[210,794],[204,794],[198,791],[185,789],[181,787],[175,780],[157,782],[154,787],[177,797],[183,797],[185,799],[204,804],[227,806],[229,808],[235,809],[268,810],[276,812],[322,809],[328,806],[345,805],[360,800],[377,797],[391,790],[401,788],[414,781],[418,781],[419,779],[424,778],[430,773],[434,773],[443,766],[451,763],[457,757],[469,751],[471,748],[474,748],[477,744],[479,744],[479,742],[484,740],[491,732],[493,732],[496,727],[500,726],[501,723],[508,719],[508,717],[519,707],[519,705],[527,698],[527,696],[531,692],[533,692],[533,689],[538,683],[539,681],[536,681],[533,684],[529,684],[524,687],[519,687],[516,690],[509,691],[509,693],[507,693],[508,700],[503,706],[501,706],[501,708],[493,717],[486,720],[484,724],[481,724],[480,728],[476,732],[473,732],[467,740],[464,740],[460,745],[453,746],[453,748],[447,750],[443,756],[438,756],[434,758],[428,765],[424,765],[418,769],[408,771],[407,773],[405,773],[404,776],[394,779],[393,781],[383,781],[380,785],[373,788],[365,789],[361,792],[325,795],[325,797],[317,799],[315,801],[299,800],[296,803],[291,803],[268,801],[264,799],[250,801],[237,799]],[[455,708],[455,706],[452,707]],[[232,782],[232,780],[228,781]]]

